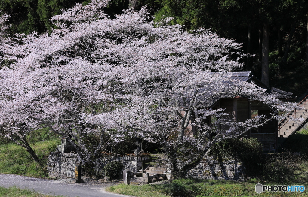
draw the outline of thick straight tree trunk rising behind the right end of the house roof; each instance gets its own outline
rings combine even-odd
[[[263,22],[262,32],[262,65],[261,65],[261,81],[267,87],[270,87],[269,79],[269,29],[267,22]]]

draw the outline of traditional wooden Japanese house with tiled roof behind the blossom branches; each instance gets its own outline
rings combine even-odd
[[[247,83],[254,82],[256,85],[263,89],[266,89],[265,94],[274,95],[279,100],[294,100],[293,93],[285,92],[277,88],[267,88],[261,81],[253,76],[251,72],[232,72],[232,77],[238,80],[245,81]],[[228,83],[228,82],[226,82]],[[232,118],[234,121],[245,122],[247,119],[251,119],[256,115],[270,116],[273,110],[266,104],[259,100],[249,100],[245,97],[234,97],[232,95],[222,95],[213,99],[210,103],[199,104],[197,108],[225,108],[223,112],[229,113],[227,117]],[[213,121],[213,118],[208,118],[209,123]],[[228,129],[227,125],[220,125],[221,128]],[[189,130],[194,133],[195,128],[189,125]],[[271,120],[263,126],[250,129],[249,132],[244,134],[245,137],[255,137],[263,144],[264,152],[273,152],[277,150],[278,143],[278,122]]]

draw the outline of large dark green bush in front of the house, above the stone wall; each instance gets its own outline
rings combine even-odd
[[[262,144],[256,138],[227,139],[216,143],[210,152],[211,155],[232,157],[245,166],[248,176],[256,175],[262,169],[265,158],[262,156]]]

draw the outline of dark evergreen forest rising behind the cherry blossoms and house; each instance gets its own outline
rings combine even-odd
[[[11,14],[11,34],[41,33],[51,31],[50,18],[61,14],[61,9],[89,1],[0,0],[0,10]],[[123,9],[142,6],[151,9],[155,21],[173,17],[171,23],[185,29],[210,28],[221,37],[243,43],[243,53],[255,56],[242,60],[245,68],[241,71],[251,70],[269,87],[294,96],[307,93],[308,0],[111,0],[105,11],[113,17]]]

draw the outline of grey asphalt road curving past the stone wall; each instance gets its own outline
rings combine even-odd
[[[105,187],[110,184],[88,185],[84,183],[57,183],[54,180],[38,179],[21,175],[0,174],[0,187],[16,186],[33,189],[42,194],[64,195],[69,197],[123,197],[124,195],[108,193]]]

